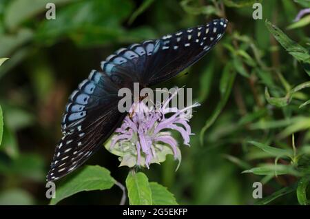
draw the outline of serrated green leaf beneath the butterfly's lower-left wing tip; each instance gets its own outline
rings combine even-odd
[[[114,178],[110,176],[110,171],[98,165],[85,166],[70,176],[68,180],[56,188],[56,198],[50,201],[50,205],[55,205],[64,198],[81,191],[110,189],[115,183]]]

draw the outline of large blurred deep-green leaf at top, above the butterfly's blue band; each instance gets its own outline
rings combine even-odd
[[[48,45],[63,37],[83,46],[111,43],[125,34],[121,22],[130,15],[132,8],[132,2],[125,0],[70,3],[59,9],[52,22],[42,21],[36,39]]]

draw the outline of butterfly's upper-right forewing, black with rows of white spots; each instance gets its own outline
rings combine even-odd
[[[154,46],[154,55],[143,72],[147,85],[167,81],[196,63],[220,41],[226,27],[226,19],[216,19],[206,25],[163,36]]]

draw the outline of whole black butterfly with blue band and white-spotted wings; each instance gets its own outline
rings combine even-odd
[[[69,98],[61,123],[63,138],[47,180],[58,180],[82,165],[121,125],[126,113],[117,107],[120,88],[132,89],[134,82],[149,87],[176,76],[207,54],[226,26],[226,19],[216,19],[121,48],[101,62],[102,71],[93,70]]]

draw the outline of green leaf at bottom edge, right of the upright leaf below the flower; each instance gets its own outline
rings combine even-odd
[[[170,193],[166,187],[156,182],[149,183],[149,187],[152,191],[153,205],[178,205],[174,194]]]

